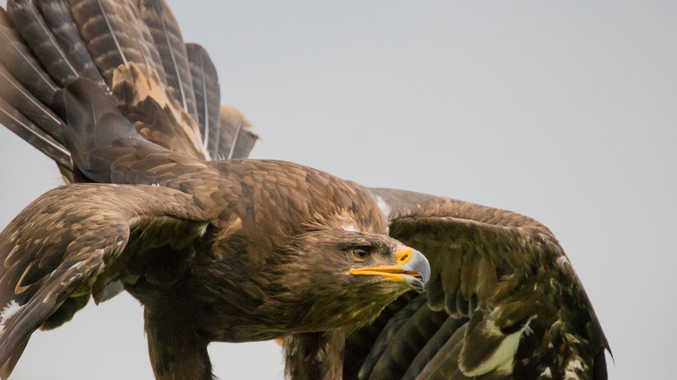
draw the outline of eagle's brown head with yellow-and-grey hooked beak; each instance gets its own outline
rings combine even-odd
[[[295,236],[279,266],[278,294],[297,306],[298,329],[357,329],[402,293],[422,292],[428,260],[383,234],[322,229]],[[298,312],[302,310],[303,312]]]

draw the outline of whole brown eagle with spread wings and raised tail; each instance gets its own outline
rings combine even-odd
[[[251,123],[164,1],[8,1],[0,39],[0,124],[66,183],[0,233],[3,379],[34,331],[121,291],[160,380],[212,379],[212,341],[267,339],[291,379],[606,378],[547,227],[247,159]]]

